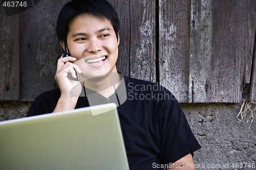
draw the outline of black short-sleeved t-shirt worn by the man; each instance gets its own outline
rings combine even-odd
[[[131,170],[162,169],[157,167],[201,148],[172,93],[155,83],[123,78],[127,99],[117,110]],[[27,115],[53,112],[59,97],[58,88],[40,94]],[[102,98],[102,104],[106,101],[100,94],[98,98]],[[110,102],[112,98],[116,99],[115,93]],[[82,96],[75,108],[88,106],[87,96]]]

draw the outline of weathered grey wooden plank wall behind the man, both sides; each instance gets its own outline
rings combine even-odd
[[[0,7],[0,100],[33,101],[56,87],[64,53],[55,25],[68,0]],[[179,102],[256,101],[256,1],[109,0],[121,20],[118,70],[158,82]],[[37,4],[37,5],[36,5]]]

